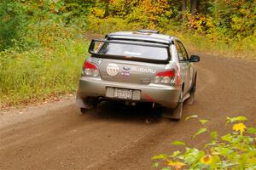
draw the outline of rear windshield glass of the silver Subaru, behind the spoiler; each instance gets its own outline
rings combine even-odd
[[[167,48],[111,42],[104,42],[98,50],[98,54],[121,55],[142,59],[168,59]]]

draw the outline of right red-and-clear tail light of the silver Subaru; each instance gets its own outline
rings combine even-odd
[[[159,71],[156,73],[153,81],[154,83],[171,84],[175,82],[176,72],[175,70]]]

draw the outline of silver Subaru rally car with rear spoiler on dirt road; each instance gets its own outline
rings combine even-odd
[[[167,109],[165,116],[181,119],[183,101],[193,104],[197,55],[187,53],[177,38],[159,31],[119,31],[90,42],[76,103],[82,112],[102,100],[150,103]]]

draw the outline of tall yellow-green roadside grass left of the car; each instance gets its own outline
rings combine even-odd
[[[75,92],[89,42],[62,40],[53,48],[0,53],[0,108]]]

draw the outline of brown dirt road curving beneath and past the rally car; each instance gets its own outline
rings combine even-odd
[[[184,116],[197,114],[220,133],[226,116],[247,116],[256,126],[256,63],[201,55],[196,64],[195,105]],[[201,147],[207,134],[191,139],[201,127],[195,120],[169,122],[147,111],[104,103],[81,115],[73,99],[0,114],[0,169],[150,169],[151,156],[170,153],[172,140]]]

